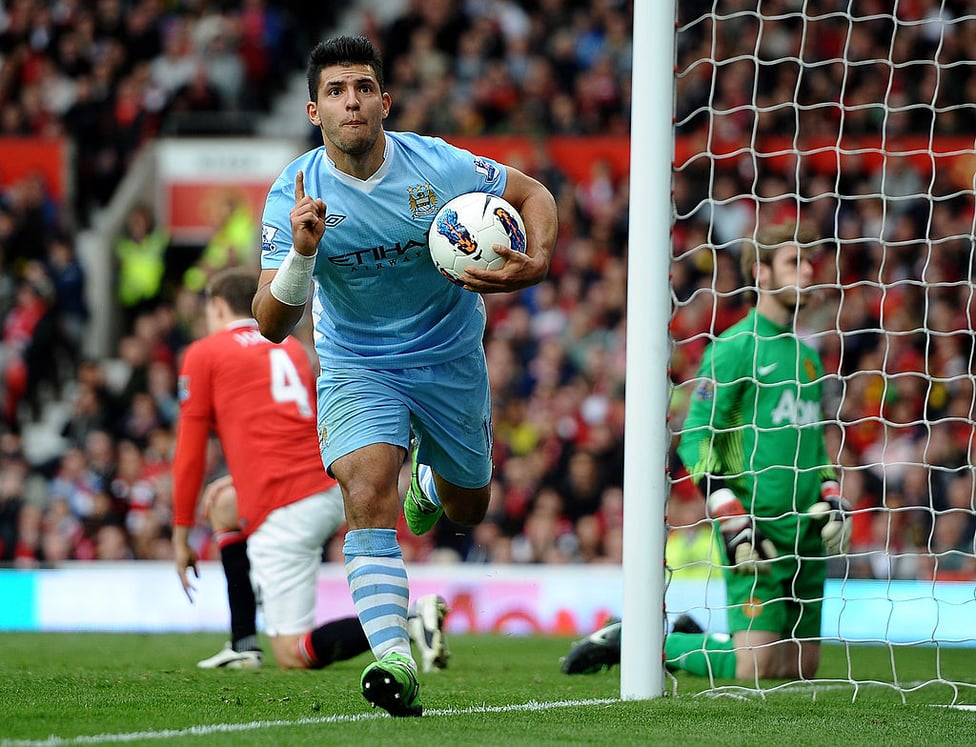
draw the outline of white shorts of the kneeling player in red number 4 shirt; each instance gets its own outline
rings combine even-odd
[[[336,485],[276,508],[248,537],[251,583],[269,636],[301,635],[315,626],[323,545],[345,518]]]

